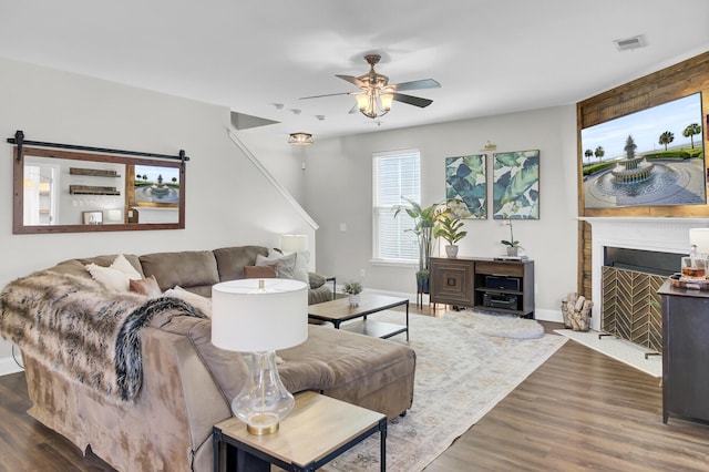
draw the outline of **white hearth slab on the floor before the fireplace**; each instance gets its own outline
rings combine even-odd
[[[654,355],[646,358],[645,355],[650,350],[643,346],[615,336],[598,338],[598,331],[594,330],[555,329],[554,331],[653,377],[658,379],[662,377],[662,356]]]

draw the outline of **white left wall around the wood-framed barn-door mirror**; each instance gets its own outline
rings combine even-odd
[[[243,244],[273,247],[279,234],[308,232],[299,214],[228,138],[227,107],[3,59],[0,76],[3,142],[22,130],[33,141],[161,154],[184,148],[191,157],[183,230],[12,235],[12,145],[0,144],[0,286],[79,256]],[[294,160],[285,138],[261,148],[273,161]],[[297,181],[288,186],[299,191]],[[10,351],[11,345],[0,340],[0,373],[11,368]]]

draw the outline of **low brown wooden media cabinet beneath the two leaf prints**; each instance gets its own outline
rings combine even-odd
[[[534,261],[432,257],[431,302],[534,318]]]

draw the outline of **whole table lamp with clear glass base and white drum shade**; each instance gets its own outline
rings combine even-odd
[[[232,411],[251,434],[278,431],[295,400],[276,366],[276,349],[308,339],[308,289],[299,280],[239,279],[212,287],[212,343],[249,352],[244,388]]]

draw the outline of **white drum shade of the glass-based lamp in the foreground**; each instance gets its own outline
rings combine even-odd
[[[259,281],[264,288],[259,289]],[[239,352],[298,346],[308,339],[308,288],[299,280],[239,279],[212,287],[212,343]]]

